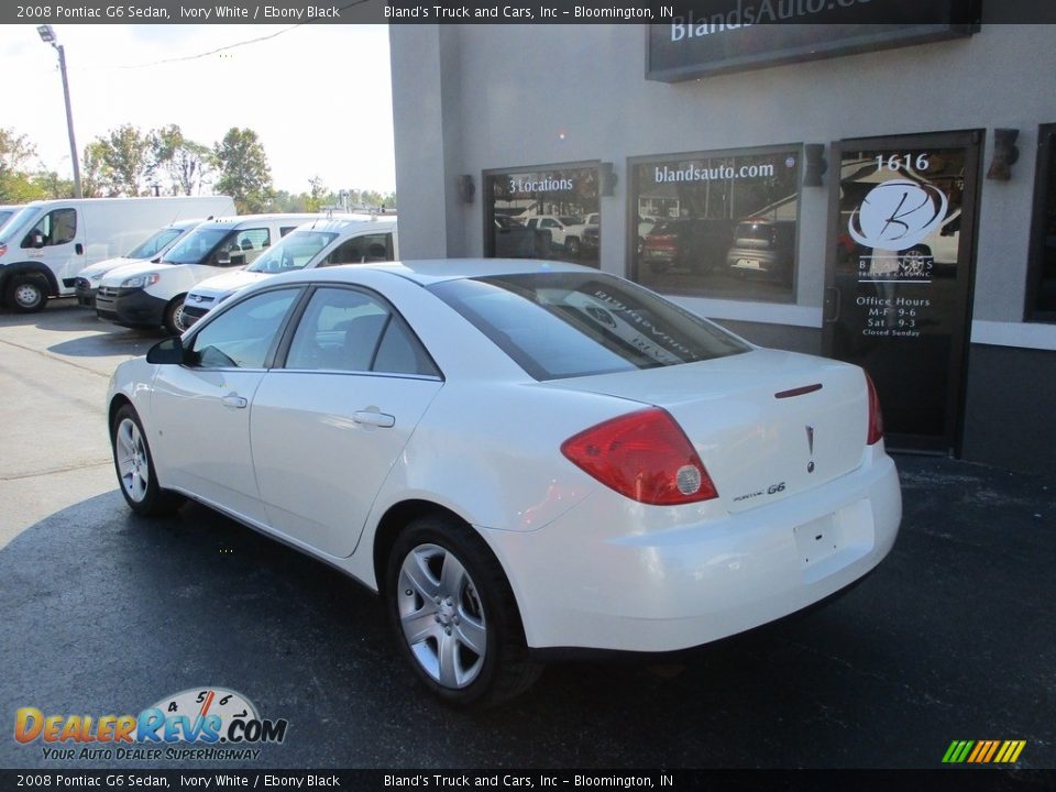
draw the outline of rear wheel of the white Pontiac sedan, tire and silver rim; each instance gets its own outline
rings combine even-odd
[[[526,691],[542,672],[528,654],[506,575],[465,525],[440,516],[410,522],[389,553],[384,598],[400,653],[448,704],[494,706]],[[481,644],[483,652],[474,650]]]

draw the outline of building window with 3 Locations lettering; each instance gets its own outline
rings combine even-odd
[[[498,258],[561,258],[600,265],[597,166],[484,175],[484,250]]]

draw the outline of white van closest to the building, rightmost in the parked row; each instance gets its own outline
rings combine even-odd
[[[399,257],[395,215],[334,215],[297,228],[245,270],[202,280],[184,300],[188,328],[232,294],[278,273]]]

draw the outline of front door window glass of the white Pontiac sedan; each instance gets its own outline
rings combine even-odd
[[[299,289],[265,292],[232,306],[195,336],[200,369],[263,369]]]

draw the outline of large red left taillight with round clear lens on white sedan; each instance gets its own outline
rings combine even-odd
[[[591,427],[565,440],[561,453],[640,503],[673,506],[718,497],[685,433],[659,407]]]

